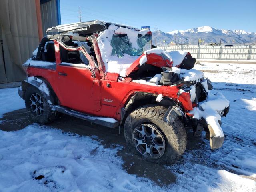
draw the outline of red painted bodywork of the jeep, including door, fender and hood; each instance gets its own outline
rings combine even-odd
[[[105,74],[104,67],[98,69],[89,54],[81,47],[67,48],[62,42],[57,40],[54,40],[54,43],[56,52],[56,70],[30,66],[28,67],[28,76],[45,78],[52,86],[59,99],[60,105],[62,106],[67,106],[71,109],[93,114],[95,116],[104,116],[120,120],[121,108],[124,107],[128,99],[130,99],[136,92],[148,92],[156,95],[162,94],[165,97],[180,102],[185,111],[192,110],[190,94],[183,92],[178,96],[179,88],[176,86],[170,87],[138,84],[130,82],[130,78],[118,81],[118,74]],[[61,64],[59,46],[70,51],[82,51],[86,58],[88,58],[92,68],[63,66]],[[97,46],[95,42],[94,46]],[[100,52],[97,56],[97,60],[98,58],[101,58]],[[162,58],[159,58],[159,55],[156,54],[149,54],[147,58],[151,64],[156,66],[161,67],[171,65],[170,62],[162,60]],[[134,63],[137,64],[138,61],[136,60]],[[98,63],[100,62],[98,60]],[[134,64],[134,66],[136,64]]]

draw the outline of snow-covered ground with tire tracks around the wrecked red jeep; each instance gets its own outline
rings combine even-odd
[[[188,133],[187,150],[172,166],[140,160],[118,134],[76,118],[31,124],[18,110],[17,88],[0,89],[0,128],[23,128],[0,130],[0,191],[256,191],[256,65],[203,64],[195,68],[230,101],[224,145],[212,151]]]

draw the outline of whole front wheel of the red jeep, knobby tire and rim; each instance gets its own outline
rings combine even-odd
[[[172,164],[186,149],[184,126],[176,118],[172,124],[163,121],[166,108],[142,106],[126,118],[124,136],[129,148],[150,162]]]

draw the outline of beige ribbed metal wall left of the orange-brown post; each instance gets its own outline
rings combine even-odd
[[[0,28],[7,76],[6,78],[3,71],[0,46],[1,82],[15,82],[26,77],[22,64],[31,56],[39,43],[36,18],[35,0],[1,0]]]

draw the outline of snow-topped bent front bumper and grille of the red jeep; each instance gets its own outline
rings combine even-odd
[[[229,101],[220,92],[210,91],[209,88],[212,89],[212,85],[207,79],[201,79],[196,85],[190,87],[190,98],[195,106],[188,115],[196,122],[195,133],[200,129],[206,130],[210,147],[215,149],[220,148],[224,142],[221,117],[228,114]],[[202,125],[198,126],[198,124]]]

